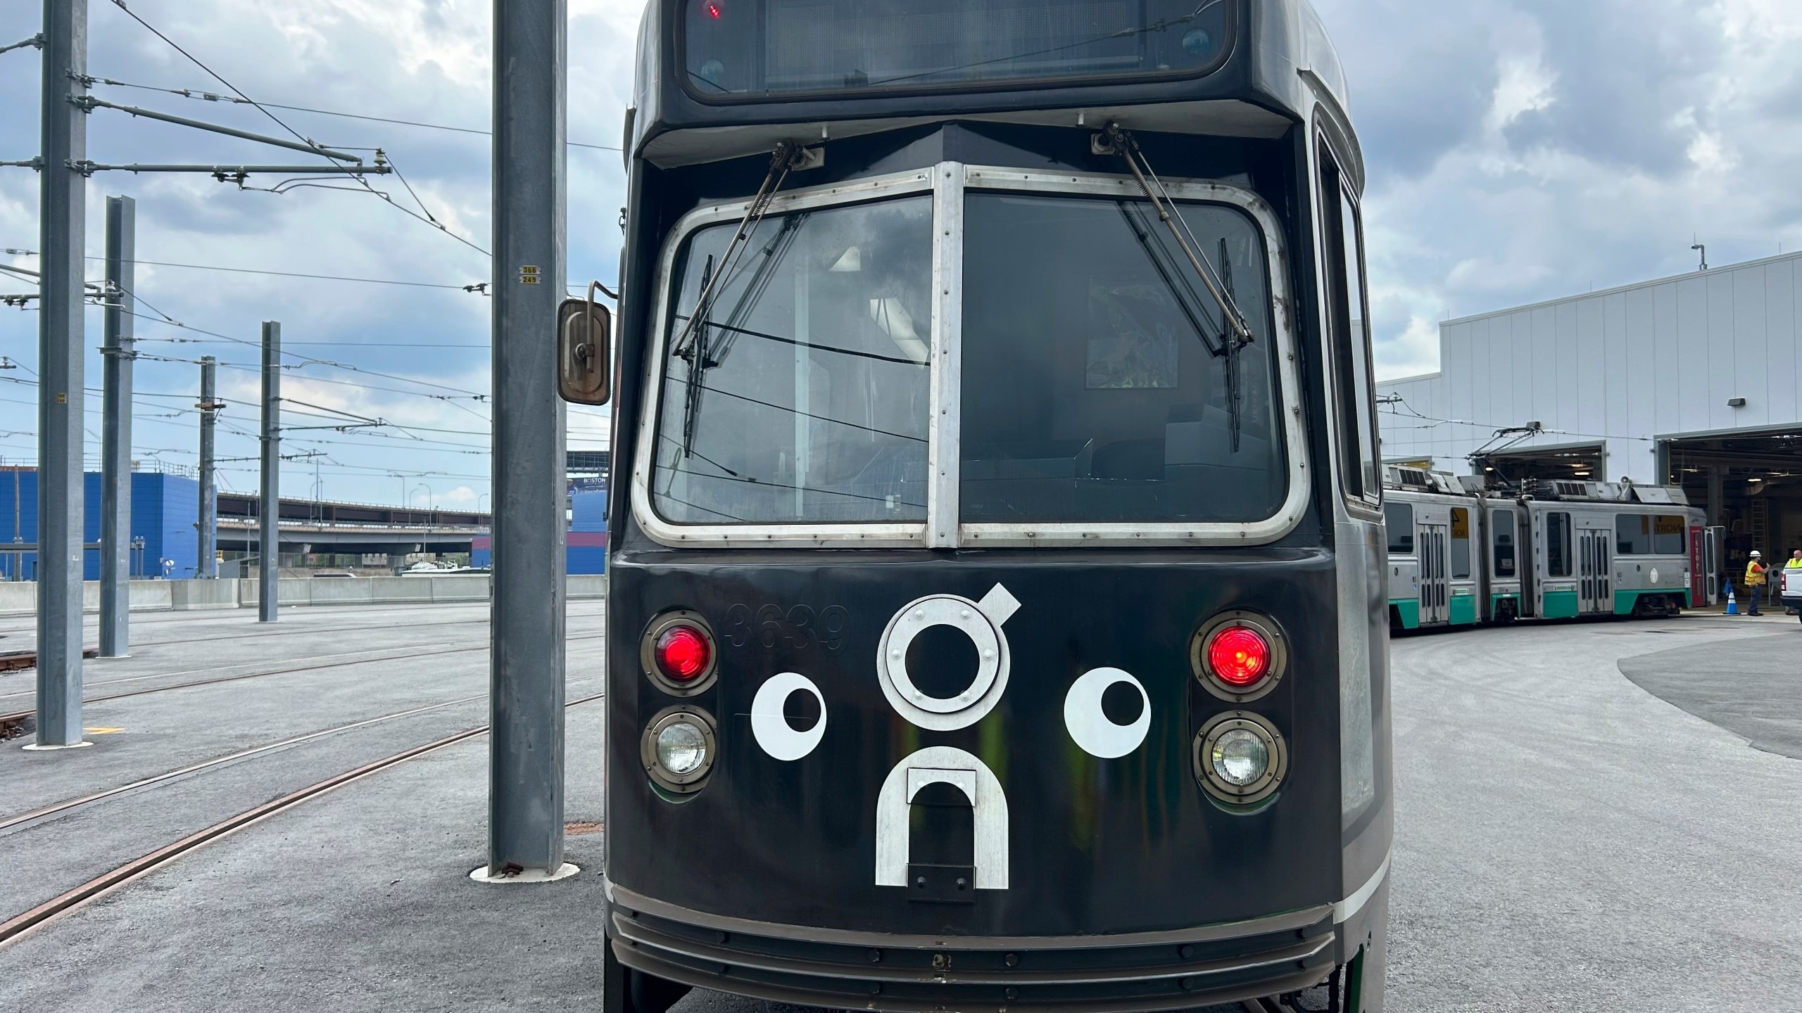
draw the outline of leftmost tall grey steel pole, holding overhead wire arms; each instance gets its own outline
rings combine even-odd
[[[88,153],[86,0],[43,0],[38,173],[38,746],[81,743],[81,386]]]

